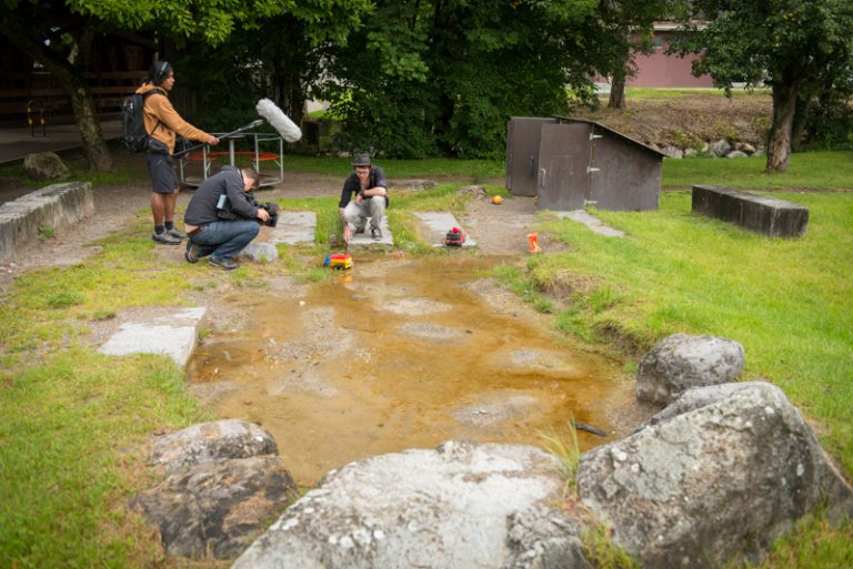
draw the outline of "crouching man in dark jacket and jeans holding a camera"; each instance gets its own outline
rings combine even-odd
[[[195,190],[183,215],[189,236],[183,256],[189,263],[210,255],[211,265],[237,268],[234,257],[258,235],[261,224],[274,226],[278,205],[259,204],[251,194],[259,182],[254,169],[222,166]]]

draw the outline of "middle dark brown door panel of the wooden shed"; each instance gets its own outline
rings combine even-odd
[[[538,207],[582,210],[589,191],[590,133],[588,123],[543,124],[539,149]]]

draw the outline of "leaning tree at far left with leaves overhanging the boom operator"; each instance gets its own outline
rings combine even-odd
[[[103,141],[84,79],[92,41],[111,31],[144,31],[179,43],[222,44],[238,29],[292,14],[311,22],[312,40],[345,39],[369,0],[2,0],[0,32],[50,71],[71,98],[90,167],[106,171],[112,159]],[[333,23],[330,23],[333,22]]]

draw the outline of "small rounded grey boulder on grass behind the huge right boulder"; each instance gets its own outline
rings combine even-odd
[[[732,382],[743,366],[743,346],[733,339],[673,334],[640,362],[636,398],[666,405],[692,387]]]

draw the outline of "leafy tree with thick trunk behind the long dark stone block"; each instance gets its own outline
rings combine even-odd
[[[850,81],[853,3],[850,0],[694,0],[690,33],[681,49],[702,52],[694,72],[710,73],[716,87],[734,82],[773,90],[769,171],[784,171],[797,101],[815,85]],[[846,73],[846,77],[845,77]]]

